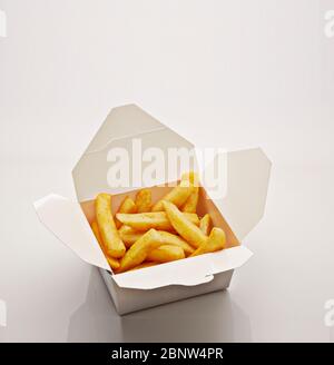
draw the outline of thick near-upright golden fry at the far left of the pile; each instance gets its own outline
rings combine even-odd
[[[121,241],[111,214],[111,196],[99,194],[95,201],[96,219],[109,257],[119,258],[125,255],[126,247]]]

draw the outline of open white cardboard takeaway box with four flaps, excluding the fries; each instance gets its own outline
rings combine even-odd
[[[200,186],[197,213],[209,213],[213,225],[225,230],[224,250],[115,275],[89,224],[95,219],[94,199],[99,193],[112,194],[115,213],[126,195],[134,198],[139,189],[112,187],[112,181],[106,178],[110,167],[108,152],[119,147],[130,151],[134,138],[140,140],[143,149],[158,147],[166,154],[170,147],[194,148],[139,107],[115,108],[73,169],[78,203],[49,195],[35,203],[40,220],[81,259],[99,267],[119,314],[227,288],[234,269],[252,256],[240,241],[264,214],[271,161],[259,148],[228,151],[225,156],[227,194],[213,200]],[[137,164],[134,156],[131,171]],[[170,181],[178,178],[176,169]],[[171,189],[170,185],[160,184],[151,187],[154,201]]]

